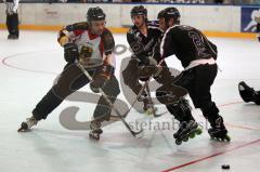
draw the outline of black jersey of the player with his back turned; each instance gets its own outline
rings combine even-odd
[[[195,59],[217,59],[217,47],[198,29],[176,25],[166,31],[160,44],[160,54],[162,58],[174,54],[182,66],[186,67]]]

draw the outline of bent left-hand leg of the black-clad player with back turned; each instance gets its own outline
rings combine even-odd
[[[188,137],[194,137],[196,134],[202,133],[202,129],[192,116],[188,102],[183,97],[193,83],[193,72],[183,71],[178,78],[174,78],[172,83],[162,85],[161,88],[164,89],[159,88],[156,93],[158,101],[165,104],[169,113],[180,121],[180,127],[173,134],[178,145],[182,141],[186,142]],[[183,89],[185,90],[184,94],[180,94]],[[178,94],[181,96],[177,96]]]

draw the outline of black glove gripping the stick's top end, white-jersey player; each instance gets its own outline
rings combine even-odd
[[[78,47],[75,43],[64,44],[64,58],[66,62],[74,62],[79,58]]]

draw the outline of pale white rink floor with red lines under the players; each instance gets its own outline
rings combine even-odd
[[[144,123],[142,138],[132,137],[119,121],[105,127],[99,142],[91,141],[80,122],[91,119],[95,106],[77,97],[62,103],[30,132],[17,133],[21,121],[30,116],[65,65],[56,35],[22,30],[20,40],[8,40],[8,32],[0,30],[1,172],[222,172],[222,164],[230,164],[232,172],[259,171],[260,106],[243,103],[237,91],[240,80],[260,90],[259,42],[210,38],[218,45],[222,70],[212,87],[212,96],[232,141],[210,140],[202,113],[193,109],[204,133],[177,146],[172,137],[172,128],[177,125],[169,114],[148,119],[135,110],[131,110],[127,121]],[[122,35],[115,35],[115,39],[117,44],[127,44]],[[121,61],[129,54],[127,51],[117,55],[117,76]],[[180,63],[173,58],[167,59],[169,66],[180,69]],[[88,91],[88,87],[82,89]],[[126,101],[122,93],[119,98]],[[65,128],[61,122],[64,109],[70,106],[79,108],[78,130]],[[164,106],[158,108],[165,110]],[[164,123],[170,127],[165,128]]]

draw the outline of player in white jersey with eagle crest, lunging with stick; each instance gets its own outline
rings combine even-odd
[[[115,41],[112,32],[105,27],[105,13],[100,8],[90,8],[87,21],[65,26],[58,32],[58,43],[64,48],[67,62],[57,82],[42,97],[32,110],[32,116],[22,123],[20,131],[27,131],[54,110],[69,94],[90,83],[93,92],[100,89],[108,96],[110,103],[120,93],[118,81],[114,75],[113,51]],[[78,63],[93,78],[91,81],[78,67]],[[101,122],[109,120],[112,107],[104,96],[98,102],[90,135],[99,138],[102,133]]]

